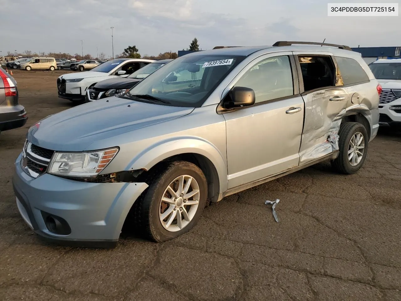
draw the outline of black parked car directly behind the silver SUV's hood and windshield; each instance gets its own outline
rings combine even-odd
[[[166,65],[166,63],[172,61],[172,59],[163,59],[160,61],[154,61],[145,67],[135,71],[127,77],[116,77],[99,81],[86,92],[85,102],[93,102],[102,98],[107,98],[114,95],[121,95],[127,92],[129,89],[134,87],[142,79]]]

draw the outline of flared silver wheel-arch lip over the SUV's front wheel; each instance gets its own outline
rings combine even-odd
[[[162,140],[139,153],[126,170],[148,171],[160,161],[180,154],[198,154],[209,159],[219,175],[220,193],[227,190],[227,160],[215,145],[199,137],[186,136]]]

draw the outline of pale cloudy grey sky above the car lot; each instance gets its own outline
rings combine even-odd
[[[0,55],[62,52],[141,55],[189,48],[317,41],[350,47],[401,46],[398,17],[328,17],[322,0],[0,0]],[[397,2],[375,0],[374,3]],[[5,30],[7,29],[7,30]]]

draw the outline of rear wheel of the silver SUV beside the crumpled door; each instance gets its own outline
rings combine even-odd
[[[338,135],[340,136],[338,139],[340,153],[337,159],[331,161],[331,164],[334,170],[351,175],[352,173],[356,173],[365,162],[368,153],[369,136],[365,126],[358,122],[345,122],[341,124]],[[363,136],[363,140],[360,140],[361,142],[358,144],[355,138],[360,136]],[[354,145],[354,151],[352,151],[352,145]],[[348,152],[351,152],[350,155],[348,155]],[[362,155],[360,155],[361,153]]]

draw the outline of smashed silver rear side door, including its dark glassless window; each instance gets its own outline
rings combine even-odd
[[[332,53],[294,51],[305,102],[300,165],[338,150],[338,131],[350,93]]]

